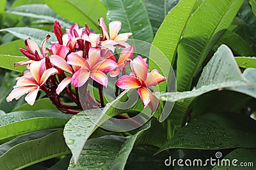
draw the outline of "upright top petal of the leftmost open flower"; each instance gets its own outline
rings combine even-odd
[[[45,59],[34,61],[30,64],[30,72],[35,78],[36,82],[40,83],[42,74],[45,71]]]

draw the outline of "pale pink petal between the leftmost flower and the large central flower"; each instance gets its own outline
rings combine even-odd
[[[51,55],[49,59],[54,66],[59,67],[63,71],[67,71],[67,73],[72,74],[72,67],[70,67],[67,64],[66,60],[64,60],[59,55]]]

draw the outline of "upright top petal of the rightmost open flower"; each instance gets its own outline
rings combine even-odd
[[[148,64],[142,59],[142,57],[140,57],[140,55],[131,61],[130,66],[138,78],[143,81],[147,79]]]

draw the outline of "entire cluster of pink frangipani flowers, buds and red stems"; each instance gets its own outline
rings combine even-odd
[[[40,47],[30,38],[26,39],[26,48],[20,48],[20,52],[28,60],[17,62],[15,66],[26,65],[27,69],[23,76],[17,78],[17,85],[13,87],[6,101],[28,94],[25,100],[33,105],[38,91],[43,90],[60,111],[76,114],[82,110],[78,94],[78,87],[81,87],[86,96],[83,108],[104,107],[102,88],[108,86],[106,74],[109,73],[109,76],[116,77],[117,80],[116,96],[118,88],[138,89],[144,107],[148,105],[152,112],[156,111],[159,101],[148,87],[157,85],[166,78],[156,69],[148,72],[146,59],[137,56],[132,60],[133,47],[125,42],[132,33],[118,34],[121,26],[120,21],[113,21],[109,23],[108,31],[104,19],[100,18],[101,34],[90,31],[87,24],[80,29],[74,24],[63,34],[61,25],[55,21],[54,34],[58,41],[51,42],[51,48],[45,48],[49,35]],[[116,47],[122,48],[119,56],[115,52]],[[125,67],[129,63],[132,72],[125,75]],[[120,74],[122,76],[118,78]],[[100,101],[94,99],[87,90],[90,79],[97,83]],[[75,105],[65,104],[61,100],[61,93],[70,97]]]

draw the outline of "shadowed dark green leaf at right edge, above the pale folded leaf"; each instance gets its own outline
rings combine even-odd
[[[240,56],[252,56],[255,54],[251,46],[241,36],[229,30],[223,34],[219,43],[229,46],[234,53]]]

